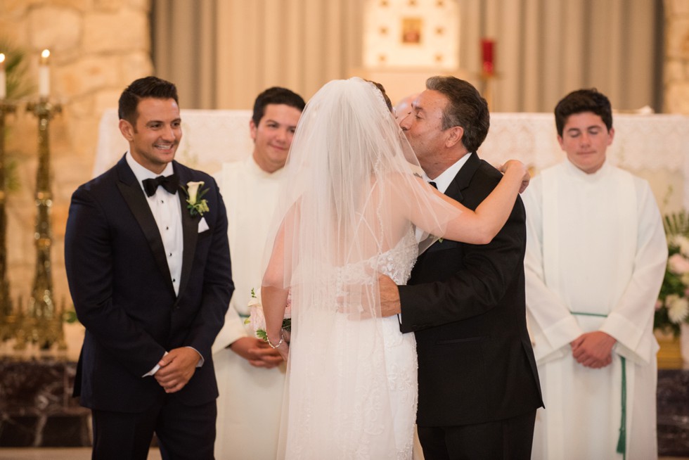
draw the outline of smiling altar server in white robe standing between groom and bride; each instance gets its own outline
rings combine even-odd
[[[285,364],[244,320],[252,288],[260,292],[264,249],[278,186],[304,99],[273,87],[257,96],[250,133],[254,151],[227,162],[217,176],[228,214],[235,291],[213,345],[220,396],[215,456],[219,460],[275,459]]]

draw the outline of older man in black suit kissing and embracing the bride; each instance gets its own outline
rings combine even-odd
[[[488,134],[487,103],[454,77],[432,77],[426,88],[400,126],[428,179],[475,209],[501,178],[476,154]],[[384,314],[401,309],[401,331],[416,333],[426,460],[530,457],[543,402],[526,326],[524,219],[517,198],[491,243],[438,241],[408,286],[381,281]]]

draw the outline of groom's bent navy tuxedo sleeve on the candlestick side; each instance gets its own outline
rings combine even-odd
[[[112,359],[143,376],[163,357],[165,348],[113,302],[110,232],[98,201],[88,189],[77,189],[65,231],[65,268],[77,317]]]

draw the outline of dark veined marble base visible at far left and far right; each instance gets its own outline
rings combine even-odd
[[[91,411],[72,397],[76,366],[0,357],[0,447],[91,445]],[[658,371],[657,407],[659,455],[689,457],[689,369]]]

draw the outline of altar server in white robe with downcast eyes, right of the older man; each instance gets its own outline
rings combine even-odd
[[[656,459],[653,314],[667,262],[659,210],[646,181],[605,160],[607,97],[572,92],[555,124],[567,160],[522,195],[527,319],[546,407],[532,458]]]

